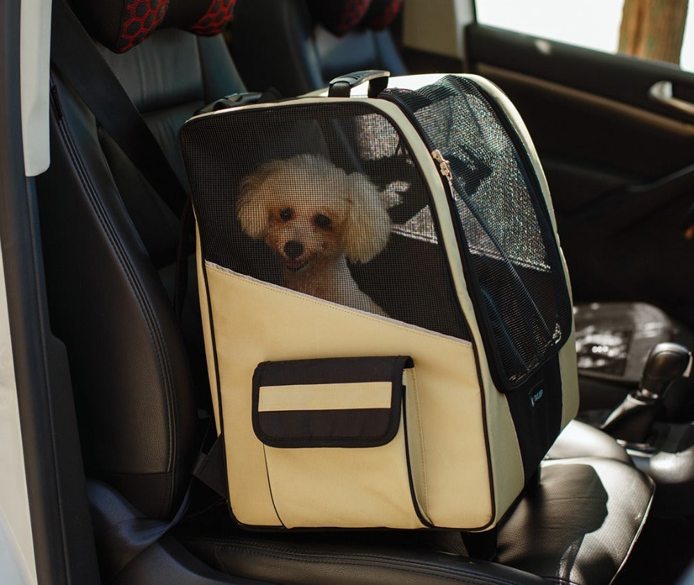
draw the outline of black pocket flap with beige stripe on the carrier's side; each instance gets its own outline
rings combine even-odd
[[[378,447],[398,432],[411,357],[263,362],[253,374],[253,430],[271,447]]]

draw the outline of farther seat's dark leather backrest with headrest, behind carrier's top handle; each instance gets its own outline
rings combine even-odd
[[[387,26],[396,0],[237,0],[234,61],[251,90],[296,96],[362,69],[407,71]]]

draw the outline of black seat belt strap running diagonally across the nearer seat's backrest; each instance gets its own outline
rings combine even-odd
[[[180,217],[185,189],[130,96],[65,0],[53,2],[51,59],[99,124]]]

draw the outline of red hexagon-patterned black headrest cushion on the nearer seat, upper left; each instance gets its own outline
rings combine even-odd
[[[236,0],[70,0],[87,32],[115,53],[125,53],[156,28],[196,35],[220,33]]]

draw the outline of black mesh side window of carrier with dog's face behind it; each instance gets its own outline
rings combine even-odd
[[[470,339],[428,187],[377,110],[321,103],[219,112],[190,121],[180,144],[205,260]]]

